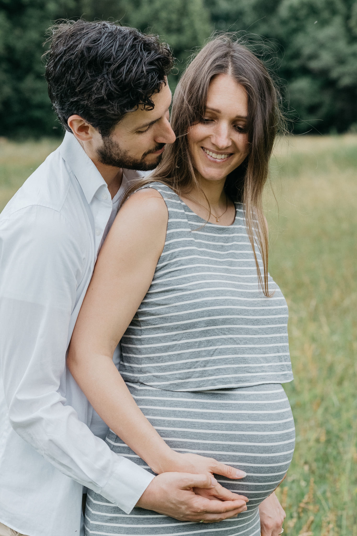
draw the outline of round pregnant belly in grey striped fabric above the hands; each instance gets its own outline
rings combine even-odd
[[[247,473],[240,480],[216,478],[248,497],[248,511],[283,479],[293,456],[295,430],[282,385],[199,392],[164,391],[143,384],[128,388],[173,450],[215,458]],[[107,442],[113,451],[149,470],[112,431]]]

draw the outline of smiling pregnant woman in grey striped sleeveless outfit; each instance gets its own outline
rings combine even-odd
[[[259,505],[293,455],[288,311],[262,212],[276,89],[250,51],[218,38],[181,78],[171,123],[176,142],[127,192],[98,257],[68,364],[113,451],[154,473],[217,473],[214,458],[246,476],[216,474],[240,501],[219,524],[127,515],[89,491],[87,536],[259,535]]]

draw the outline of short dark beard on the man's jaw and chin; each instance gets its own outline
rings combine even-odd
[[[117,143],[115,143],[110,136],[103,137],[103,145],[97,149],[98,160],[107,166],[113,166],[117,168],[125,169],[138,169],[140,171],[150,171],[155,169],[158,163],[162,159],[162,154],[157,155],[157,159],[154,162],[145,162],[145,157],[148,154],[159,151],[164,147],[164,143],[158,143],[154,148],[146,151],[140,159],[131,157],[128,151],[123,151]]]

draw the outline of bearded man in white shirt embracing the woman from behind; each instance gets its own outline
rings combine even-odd
[[[83,533],[83,486],[127,513],[138,504],[185,520],[232,517],[234,495],[209,475],[154,478],[115,455],[65,367],[123,190],[174,142],[171,53],[153,36],[106,22],[60,24],[50,42],[49,95],[67,132],[0,217],[0,536]]]

